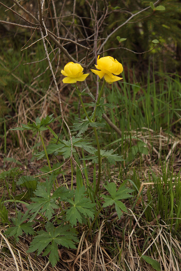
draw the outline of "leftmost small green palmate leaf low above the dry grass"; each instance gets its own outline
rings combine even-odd
[[[12,218],[11,220],[13,221],[13,224],[15,226],[8,228],[5,231],[5,235],[7,237],[9,236],[14,236],[16,239],[16,242],[19,241],[19,236],[22,235],[23,231],[28,235],[34,235],[34,230],[32,228],[32,225],[34,222],[26,222],[24,223],[25,220],[29,218],[28,211],[25,212],[25,214],[22,215],[21,212],[18,212],[17,218]]]

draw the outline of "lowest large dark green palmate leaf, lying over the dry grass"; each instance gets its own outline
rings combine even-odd
[[[39,255],[46,248],[43,256],[50,252],[49,261],[52,266],[55,266],[59,259],[57,245],[75,249],[75,242],[78,242],[78,239],[75,231],[69,225],[60,225],[55,228],[53,223],[47,222],[45,228],[46,231],[40,230],[34,237],[27,252],[38,250]]]

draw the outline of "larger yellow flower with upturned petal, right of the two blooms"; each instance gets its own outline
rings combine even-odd
[[[95,67],[100,70],[93,70],[91,71],[99,76],[101,79],[104,76],[104,79],[108,84],[112,84],[115,81],[121,80],[123,78],[116,76],[123,71],[123,66],[121,63],[119,63],[116,59],[113,57],[101,57],[97,59],[97,65]],[[114,75],[116,74],[116,75]]]

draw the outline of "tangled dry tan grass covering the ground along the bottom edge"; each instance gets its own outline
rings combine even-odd
[[[130,217],[133,221],[130,225]],[[141,250],[145,240],[147,246],[144,249],[146,254],[148,250],[154,246],[151,255],[153,259],[159,261],[164,271],[180,271],[181,246],[177,238],[173,238],[167,228],[169,225],[151,225],[146,224],[144,219],[136,218],[130,210],[129,214],[124,217],[125,236],[114,230],[112,226],[113,238],[111,243],[106,242],[104,237],[106,234],[105,221],[102,221],[100,229],[97,231],[92,243],[86,238],[83,232],[78,244],[77,250],[68,250],[59,248],[60,260],[56,267],[52,268],[46,257],[36,256],[34,253],[27,254],[27,240],[25,237],[15,244],[15,247],[2,234],[4,228],[1,228],[0,242],[0,268],[2,271],[58,271],[58,270],[83,270],[83,271],[147,271],[151,270],[150,265],[146,262],[142,263],[138,247]],[[118,223],[120,221],[117,221]],[[142,235],[138,236],[138,231],[142,231]],[[154,234],[153,234],[154,233]],[[119,244],[119,248],[117,247]],[[115,247],[115,251],[110,253],[110,248]],[[112,249],[111,249],[112,250]]]

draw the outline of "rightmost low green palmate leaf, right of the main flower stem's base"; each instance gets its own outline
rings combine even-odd
[[[114,182],[108,183],[107,185],[104,185],[105,189],[109,192],[109,195],[103,195],[102,198],[104,198],[105,203],[102,205],[102,207],[107,207],[111,205],[115,205],[115,209],[118,215],[118,218],[120,219],[122,216],[122,212],[127,212],[126,206],[120,201],[123,198],[129,198],[132,197],[132,195],[128,194],[133,192],[134,190],[130,188],[126,188],[126,186],[121,185],[116,191],[116,184]]]

